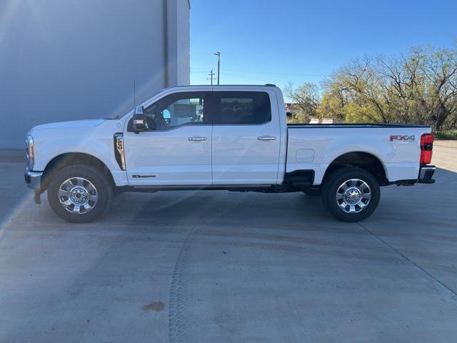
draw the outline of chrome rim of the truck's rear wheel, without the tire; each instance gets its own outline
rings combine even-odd
[[[350,179],[336,191],[336,203],[343,212],[354,214],[363,211],[371,199],[371,189],[361,179]]]

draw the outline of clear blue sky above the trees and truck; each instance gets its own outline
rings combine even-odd
[[[191,0],[191,84],[320,82],[353,57],[453,46],[457,1]]]

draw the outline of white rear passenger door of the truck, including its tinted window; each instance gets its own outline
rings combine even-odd
[[[213,184],[276,184],[281,130],[274,94],[215,91],[212,121]]]

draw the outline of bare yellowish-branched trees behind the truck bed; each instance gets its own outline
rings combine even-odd
[[[457,126],[457,49],[415,47],[398,56],[351,59],[323,82],[316,110],[346,121]]]

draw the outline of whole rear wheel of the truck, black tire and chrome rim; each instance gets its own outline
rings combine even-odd
[[[360,222],[378,207],[381,192],[375,177],[361,168],[333,172],[322,189],[322,201],[336,219]]]

